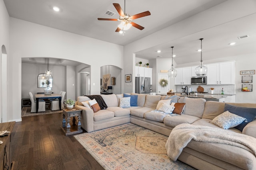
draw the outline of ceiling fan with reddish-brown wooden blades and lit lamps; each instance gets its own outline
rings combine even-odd
[[[125,13],[125,0],[124,0],[124,12],[119,4],[113,3],[114,7],[116,8],[119,16],[119,19],[111,19],[111,18],[98,18],[98,20],[106,20],[106,21],[121,21],[120,25],[118,25],[116,32],[122,31],[124,33],[124,30],[130,29],[130,27],[136,27],[140,30],[144,29],[141,25],[138,25],[137,23],[132,22],[132,20],[135,20],[137,18],[142,18],[144,16],[149,16],[150,12],[145,11],[140,14],[136,14],[133,16],[130,16],[129,14]],[[123,34],[124,35],[124,34]]]

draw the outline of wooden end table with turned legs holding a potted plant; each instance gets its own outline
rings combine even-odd
[[[73,135],[76,133],[82,133],[83,130],[81,129],[81,109],[77,107],[73,107],[73,109],[67,109],[67,108],[62,108],[63,110],[63,119],[62,119],[62,130],[64,131],[65,135]],[[73,124],[72,126],[76,126],[76,119],[75,117],[78,116],[78,124],[77,124],[77,129],[75,128],[70,128],[70,117],[73,117]],[[66,126],[66,119],[67,119],[67,126]]]

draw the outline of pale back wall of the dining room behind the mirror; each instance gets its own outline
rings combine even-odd
[[[44,92],[44,88],[38,88],[37,80],[38,74],[44,73],[46,68],[45,64],[22,63],[21,98],[29,98],[28,92],[33,95]],[[50,65],[49,68],[52,70],[52,92],[59,94],[60,91],[65,91],[65,67]]]

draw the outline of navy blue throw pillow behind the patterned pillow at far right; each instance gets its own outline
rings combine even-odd
[[[239,107],[230,104],[225,104],[224,111],[229,111],[230,113],[246,118],[246,120],[244,120],[240,125],[234,127],[240,130],[241,132],[248,123],[254,120],[256,116],[256,108],[250,107]]]

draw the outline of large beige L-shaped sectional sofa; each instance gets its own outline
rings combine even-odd
[[[131,122],[166,136],[169,136],[172,129],[181,123],[220,128],[210,123],[210,121],[224,112],[225,103],[223,102],[206,102],[205,99],[200,98],[177,97],[175,100],[178,99],[178,103],[186,104],[184,111],[182,115],[168,116],[168,114],[152,111],[156,109],[160,100],[166,100],[173,96],[151,96],[135,93],[131,95],[138,95],[138,106],[129,108],[119,107],[118,101],[119,98],[123,97],[123,94],[101,95],[108,108],[97,111],[96,113],[92,109],[85,107],[82,103],[90,99],[86,96],[79,96],[75,105],[82,109],[82,128],[87,132],[92,132]],[[229,104],[256,108],[256,104]],[[254,118],[254,121],[248,123],[242,131],[236,128],[230,128],[227,131],[243,133],[256,138],[255,129],[256,119]],[[238,147],[220,143],[205,143],[192,140],[183,149],[178,159],[197,169],[256,169],[256,157],[254,154]]]

